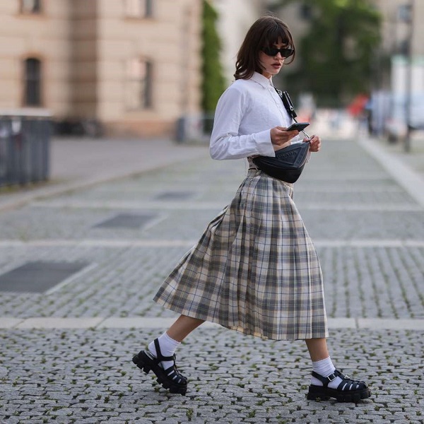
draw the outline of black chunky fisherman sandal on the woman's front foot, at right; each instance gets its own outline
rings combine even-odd
[[[324,385],[310,385],[306,396],[310,401],[328,401],[330,398],[336,398],[339,402],[358,402],[371,396],[370,389],[365,382],[353,380],[339,370],[335,370],[328,377],[322,377],[317,372],[312,372],[312,376],[322,381]],[[340,377],[343,381],[338,384],[337,389],[331,389],[328,387],[329,382],[332,382],[336,377]]]

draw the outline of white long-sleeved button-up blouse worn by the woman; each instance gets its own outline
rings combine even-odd
[[[275,156],[270,131],[292,122],[271,78],[255,72],[248,80],[232,83],[218,100],[209,147],[211,157],[222,160]],[[300,136],[291,140],[300,141]]]

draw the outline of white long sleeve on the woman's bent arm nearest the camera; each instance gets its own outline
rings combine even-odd
[[[249,108],[246,91],[230,87],[216,107],[210,153],[213,159],[241,159],[251,155],[275,156],[269,129],[240,134],[240,123]]]

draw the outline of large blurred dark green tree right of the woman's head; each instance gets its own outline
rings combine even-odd
[[[369,91],[380,42],[379,12],[369,0],[302,0],[302,7],[310,26],[297,42],[300,64],[288,69],[290,90],[310,91],[321,105],[346,102]]]

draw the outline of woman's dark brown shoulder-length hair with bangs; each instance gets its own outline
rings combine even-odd
[[[247,31],[245,40],[237,54],[235,63],[235,79],[249,79],[254,71],[262,73],[262,66],[259,61],[259,52],[264,47],[274,47],[278,39],[286,47],[294,50],[290,61],[285,64],[291,64],[295,59],[296,50],[293,37],[288,26],[281,19],[275,16],[263,16],[259,18]]]

